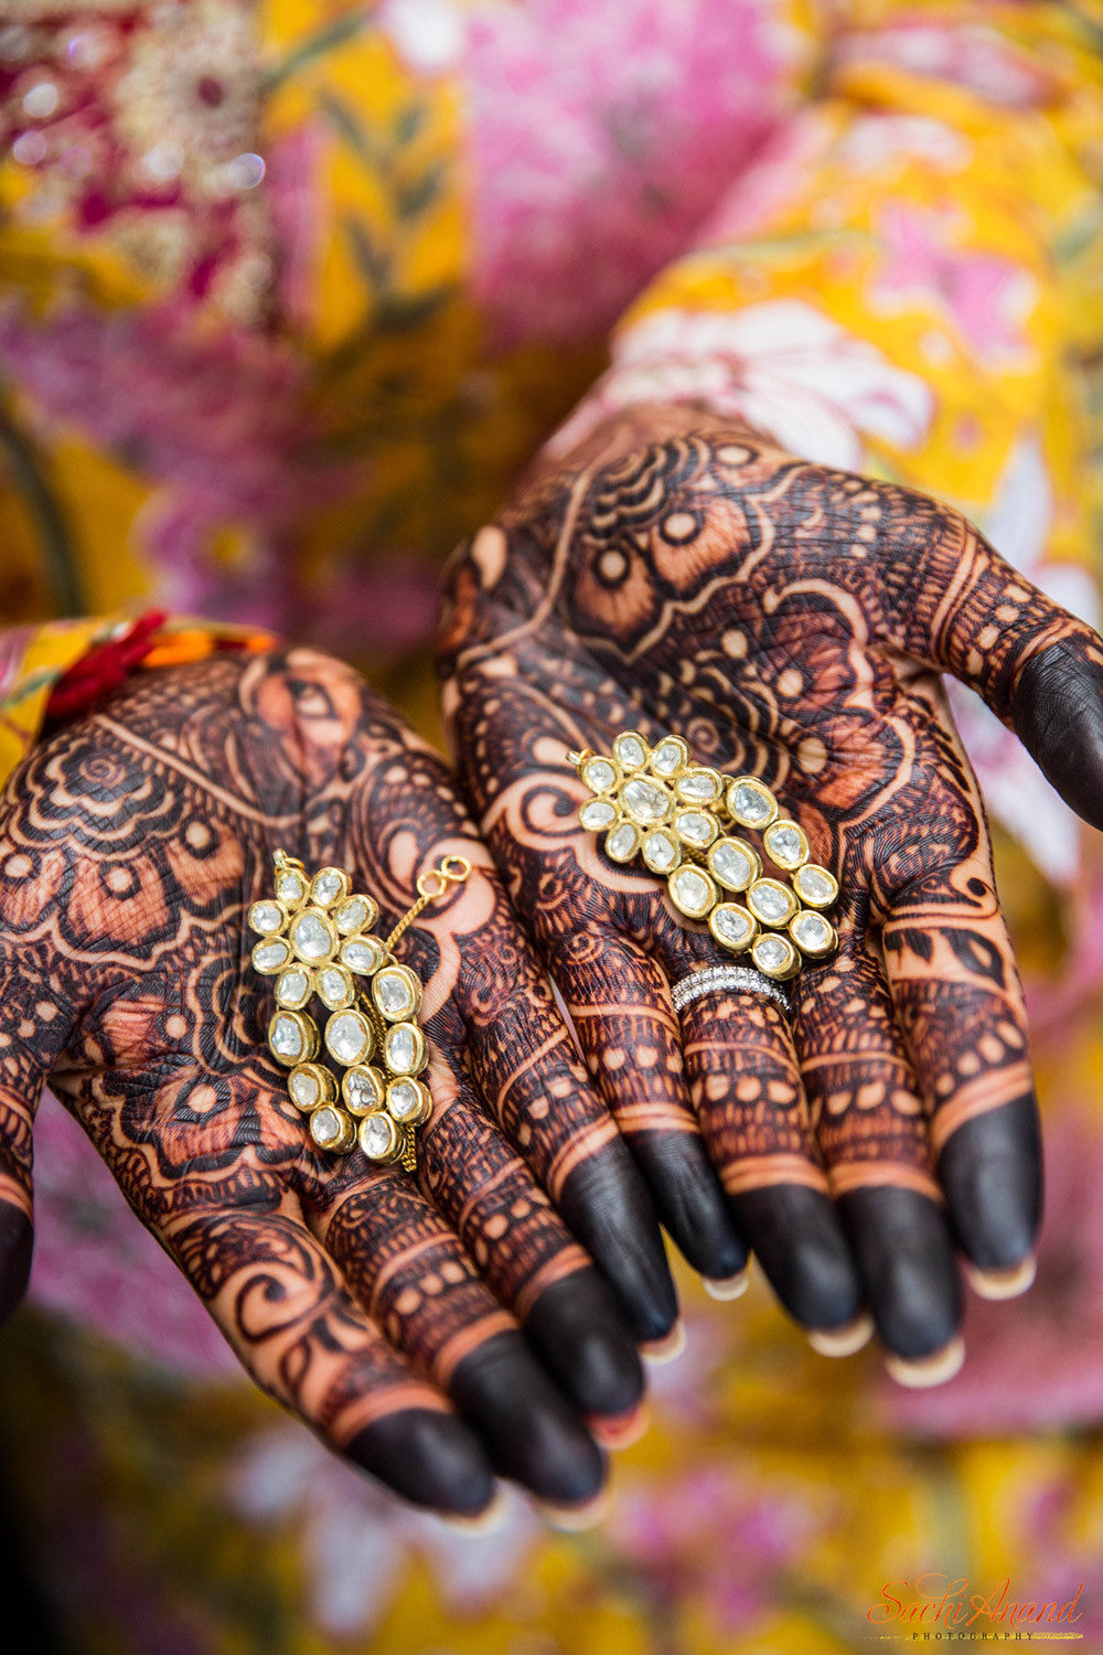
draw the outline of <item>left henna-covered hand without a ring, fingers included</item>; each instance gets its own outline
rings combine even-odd
[[[475,862],[397,945],[427,985],[435,1111],[417,1178],[318,1152],[268,1054],[271,980],[250,967],[245,915],[278,847],[351,869],[387,928],[430,862]],[[610,1139],[604,1106],[443,763],[351,669],[296,650],[139,675],[10,778],[8,1307],[46,1081],[250,1374],[332,1446],[453,1511],[486,1504],[491,1468],[556,1503],[595,1491],[580,1415],[633,1407],[638,1357],[547,1192],[650,1334],[675,1314],[665,1259],[647,1226],[633,1246],[638,1173],[615,1142],[599,1154],[612,1203],[589,1220],[571,1168]]]

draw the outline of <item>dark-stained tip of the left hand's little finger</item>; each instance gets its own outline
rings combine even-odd
[[[556,1206],[612,1288],[632,1337],[645,1342],[668,1334],[678,1294],[655,1203],[623,1140],[580,1162]]]

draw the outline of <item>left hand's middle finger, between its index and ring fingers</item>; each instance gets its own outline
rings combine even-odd
[[[349,1162],[319,1182],[308,1213],[357,1301],[451,1397],[503,1476],[554,1504],[592,1499],[595,1443],[455,1233],[408,1173]]]

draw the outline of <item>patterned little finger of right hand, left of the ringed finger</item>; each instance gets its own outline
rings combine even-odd
[[[599,927],[562,937],[549,965],[585,1064],[671,1240],[703,1276],[738,1274],[746,1246],[690,1106],[681,1033],[660,967]]]

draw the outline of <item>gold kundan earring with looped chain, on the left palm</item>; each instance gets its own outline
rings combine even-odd
[[[354,892],[344,869],[311,875],[276,851],[275,895],[248,914],[260,933],[253,967],[276,978],[268,1049],[291,1071],[288,1094],[319,1149],[344,1154],[359,1142],[369,1160],[415,1168],[415,1132],[432,1112],[420,1079],[428,1063],[422,981],[392,950],[430,902],[470,874],[466,857],[446,856],[418,877],[417,902],[380,938],[372,935],[379,904]],[[308,1010],[316,1000],[327,1013],[321,1033]]]

